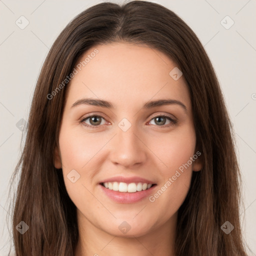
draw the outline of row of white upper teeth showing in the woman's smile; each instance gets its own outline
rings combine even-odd
[[[124,183],[124,182],[104,182],[103,186],[110,190],[119,191],[119,192],[129,192],[134,193],[136,191],[146,190],[152,186],[152,184],[147,183]]]

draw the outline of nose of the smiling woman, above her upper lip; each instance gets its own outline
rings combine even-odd
[[[110,159],[114,164],[131,168],[145,162],[147,147],[139,134],[141,133],[136,129],[136,125],[131,125],[126,131],[116,126],[116,135],[112,139],[110,152]]]

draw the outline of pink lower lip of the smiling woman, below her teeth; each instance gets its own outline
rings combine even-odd
[[[151,193],[152,190],[156,187],[156,185],[151,186],[150,188],[146,190],[141,190],[133,193],[128,193],[128,192],[119,192],[119,191],[114,191],[108,188],[105,188],[103,185],[100,185],[101,189],[103,192],[112,200],[119,202],[119,203],[133,203],[133,202],[138,202],[145,197],[148,197]]]

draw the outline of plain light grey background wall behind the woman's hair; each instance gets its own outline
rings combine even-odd
[[[6,199],[22,134],[16,123],[27,120],[40,68],[57,35],[76,14],[99,2],[0,0],[0,255],[7,255],[10,244]],[[236,132],[245,205],[243,233],[252,250],[248,254],[256,255],[256,1],[153,2],[173,10],[193,29],[214,66]],[[15,24],[21,15],[29,21],[24,29]],[[220,23],[226,15],[234,21],[229,29]],[[223,22],[230,24],[229,20]]]

